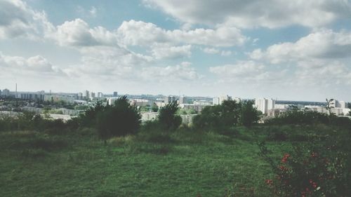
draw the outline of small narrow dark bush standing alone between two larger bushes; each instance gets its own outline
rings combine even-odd
[[[166,130],[176,130],[182,123],[182,118],[176,115],[178,111],[177,102],[169,102],[165,107],[159,109],[158,121]]]

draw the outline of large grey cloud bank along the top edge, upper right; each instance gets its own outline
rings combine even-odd
[[[182,22],[190,24],[218,25],[234,27],[284,27],[303,25],[321,27],[338,18],[349,18],[350,1],[310,0],[310,1],[189,1],[144,0],[145,5],[160,8]]]

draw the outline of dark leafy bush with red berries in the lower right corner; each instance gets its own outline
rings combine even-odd
[[[266,179],[274,196],[348,196],[351,193],[350,134],[293,143],[277,162],[264,142],[260,153],[275,177]]]

